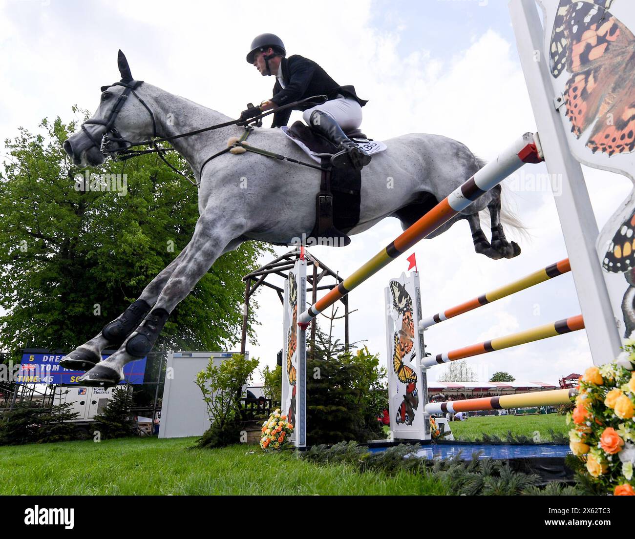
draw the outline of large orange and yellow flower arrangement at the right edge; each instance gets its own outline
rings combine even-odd
[[[569,446],[592,481],[616,496],[634,496],[635,332],[617,361],[589,367],[567,415]]]

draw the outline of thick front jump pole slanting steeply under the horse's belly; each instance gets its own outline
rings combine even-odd
[[[333,288],[326,296],[318,300],[298,317],[298,326],[307,329],[312,319],[320,312],[337,302],[352,289],[373,276],[380,269],[387,266],[404,251],[409,250],[415,243],[429,236],[441,225],[447,223],[460,211],[465,210],[479,197],[502,182],[507,176],[518,170],[525,163],[540,163],[544,160],[537,135],[525,133],[507,150],[486,164],[463,185],[451,192],[432,210],[415,222],[410,228],[397,237],[391,244],[373,256],[368,262],[353,272]]]

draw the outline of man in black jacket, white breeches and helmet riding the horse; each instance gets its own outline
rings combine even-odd
[[[361,124],[361,107],[367,101],[360,99],[353,86],[340,86],[309,58],[293,55],[286,58],[282,40],[274,34],[260,34],[251,42],[247,62],[253,64],[262,76],[276,76],[273,97],[250,107],[241,114],[247,120],[262,114],[265,110],[276,109],[286,103],[299,101],[314,95],[326,95],[328,101],[312,107],[302,103],[293,107],[304,110],[302,118],[307,125],[335,143],[340,151],[331,157],[331,164],[339,168],[352,165],[356,170],[370,163],[370,156],[359,149],[344,130],[352,131]],[[273,127],[285,126],[291,116],[291,107],[274,112]]]

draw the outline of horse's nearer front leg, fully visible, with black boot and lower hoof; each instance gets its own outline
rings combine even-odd
[[[108,387],[123,380],[124,365],[149,354],[172,310],[208,272],[225,247],[245,232],[245,227],[243,218],[234,215],[229,220],[215,209],[206,208],[196,223],[187,253],[161,290],[152,311],[112,356],[96,364],[79,382]]]

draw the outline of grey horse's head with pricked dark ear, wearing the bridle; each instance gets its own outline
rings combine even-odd
[[[143,81],[133,79],[128,60],[121,51],[117,63],[121,81],[102,86],[95,114],[81,125],[81,130],[64,141],[64,151],[78,166],[97,166],[109,155],[156,135],[152,110],[138,95]]]

